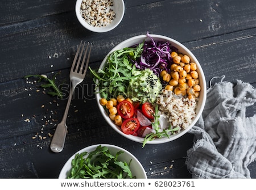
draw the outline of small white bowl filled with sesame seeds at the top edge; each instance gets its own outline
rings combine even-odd
[[[76,16],[86,29],[108,32],[121,23],[125,14],[123,0],[77,0]]]

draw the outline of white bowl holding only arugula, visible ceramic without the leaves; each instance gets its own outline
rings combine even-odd
[[[68,175],[70,174],[69,172],[72,168],[71,167],[72,159],[75,158],[75,155],[77,153],[81,154],[81,153],[84,153],[85,151],[89,153],[90,151],[95,150],[96,147],[99,145],[92,145],[92,146],[85,147],[84,149],[81,149],[77,151],[75,154],[73,154],[72,157],[68,159],[68,161],[64,164],[63,168],[61,169],[59,174],[59,179],[66,179],[68,177]],[[108,147],[112,155],[115,155],[118,151],[122,150],[124,153],[118,156],[118,161],[126,161],[126,163],[129,163],[131,161],[130,170],[133,176],[136,176],[137,179],[147,179],[147,175],[142,164],[129,151],[115,145],[102,144],[101,146]]]

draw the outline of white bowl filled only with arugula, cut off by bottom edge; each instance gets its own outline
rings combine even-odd
[[[73,154],[59,179],[147,179],[142,164],[129,151],[109,144],[85,147]]]

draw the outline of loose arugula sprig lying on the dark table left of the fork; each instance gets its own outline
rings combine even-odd
[[[40,87],[43,88],[51,88],[53,91],[48,91],[47,94],[52,95],[52,96],[57,96],[58,98],[63,98],[63,94],[59,87],[55,83],[55,78],[56,75],[60,73],[56,73],[52,79],[49,79],[46,77],[46,75],[40,75],[40,74],[31,74],[31,75],[26,75],[24,78],[30,78],[30,77],[37,77],[39,78],[38,82],[41,82],[42,80],[46,81],[46,84],[40,85]]]

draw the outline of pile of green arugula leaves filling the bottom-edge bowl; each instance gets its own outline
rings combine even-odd
[[[130,162],[118,161],[123,151],[112,155],[106,146],[97,146],[90,153],[76,154],[68,179],[123,179],[136,178],[130,170]],[[85,157],[88,155],[87,157]]]

